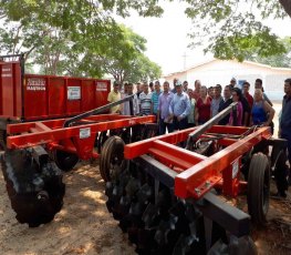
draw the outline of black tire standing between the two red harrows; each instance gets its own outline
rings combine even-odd
[[[105,182],[112,180],[112,166],[124,167],[124,141],[119,136],[111,136],[103,145],[100,156],[100,173]]]

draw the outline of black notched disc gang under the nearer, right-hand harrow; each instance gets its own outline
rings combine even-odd
[[[162,183],[156,193],[155,180],[143,167],[129,162],[112,176],[105,191],[108,211],[119,221],[119,227],[128,234],[129,241],[136,244],[136,252],[146,255],[207,254],[201,212],[195,204],[177,198]],[[243,242],[232,236],[227,238],[221,228],[219,224],[212,224],[208,254],[256,254],[248,236]]]

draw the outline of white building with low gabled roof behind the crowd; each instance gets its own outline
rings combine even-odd
[[[248,81],[251,84],[251,93],[256,79],[261,79],[266,93],[273,100],[281,100],[283,96],[283,84],[287,78],[291,78],[291,69],[272,68],[251,61],[238,62],[235,60],[214,59],[180,72],[170,73],[163,76],[173,84],[173,80],[188,81],[189,88],[194,88],[195,80],[200,80],[202,85],[210,86],[230,83],[231,78],[236,78],[238,83]]]

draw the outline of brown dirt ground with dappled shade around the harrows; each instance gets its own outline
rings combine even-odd
[[[29,228],[17,222],[0,173],[0,254],[135,254],[134,245],[106,210],[97,166],[79,164],[64,174],[64,182],[62,211],[50,224]],[[247,211],[246,200],[240,200],[239,207]],[[264,228],[251,233],[259,254],[291,254],[290,191],[287,200],[271,198],[268,217]]]

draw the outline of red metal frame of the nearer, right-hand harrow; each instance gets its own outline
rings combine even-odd
[[[218,145],[226,147],[209,157],[174,145],[186,141],[188,134],[196,129],[128,144],[124,149],[125,159],[131,160],[148,153],[172,166],[178,172],[175,177],[175,194],[178,197],[200,198],[214,186],[222,186],[224,194],[237,196],[240,190],[246,187],[246,182],[239,180],[241,156],[260,141],[270,139],[270,129],[260,128],[245,136],[243,134],[249,131],[248,128],[215,125],[208,130],[208,134],[202,134],[200,137],[211,137],[211,133],[243,137],[218,140]]]

